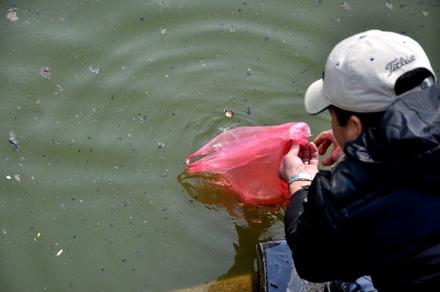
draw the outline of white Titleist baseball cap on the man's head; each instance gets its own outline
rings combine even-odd
[[[435,78],[428,56],[412,38],[381,30],[355,34],[333,48],[323,78],[305,93],[305,109],[311,115],[330,105],[358,113],[385,111],[397,100],[396,80],[416,68]]]

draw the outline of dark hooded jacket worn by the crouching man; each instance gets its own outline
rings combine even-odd
[[[397,100],[344,153],[287,206],[300,277],[370,275],[379,291],[440,289],[440,87]]]

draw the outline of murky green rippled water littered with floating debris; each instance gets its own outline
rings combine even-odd
[[[192,188],[186,157],[239,126],[329,128],[303,95],[351,34],[408,34],[438,72],[439,16],[439,1],[0,1],[0,291],[256,272],[282,208]]]

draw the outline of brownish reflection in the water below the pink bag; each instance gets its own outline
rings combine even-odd
[[[205,204],[212,211],[227,210],[228,214],[235,219],[234,226],[238,243],[233,243],[234,265],[227,273],[219,276],[218,280],[256,273],[256,245],[267,240],[278,239],[268,235],[270,234],[268,230],[280,221],[283,222],[284,207],[245,205],[230,183],[219,174],[207,172],[190,174],[184,171],[177,179],[192,199]],[[261,238],[262,235],[265,237]],[[252,284],[257,285],[257,283]]]

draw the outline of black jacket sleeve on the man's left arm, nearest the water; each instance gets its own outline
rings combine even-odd
[[[301,278],[311,282],[355,280],[362,273],[353,270],[350,262],[360,252],[344,240],[333,222],[328,210],[331,205],[324,199],[328,192],[330,172],[321,170],[309,190],[298,190],[292,196],[285,212],[286,240]],[[300,202],[301,198],[305,199]],[[303,207],[298,207],[300,203]]]

